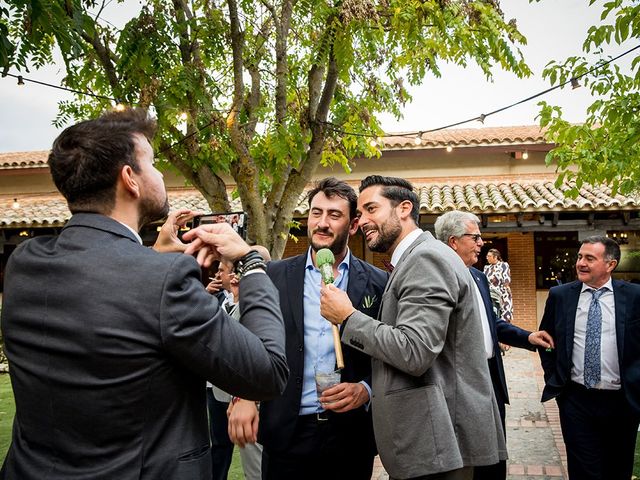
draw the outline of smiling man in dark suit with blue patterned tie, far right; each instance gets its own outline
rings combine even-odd
[[[620,247],[582,240],[578,280],[549,291],[540,328],[556,339],[540,351],[542,401],[556,399],[569,478],[628,480],[640,421],[640,286],[613,280]]]

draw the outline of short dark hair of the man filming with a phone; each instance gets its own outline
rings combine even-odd
[[[53,142],[49,169],[69,210],[110,213],[122,167],[140,171],[134,135],[151,142],[155,129],[155,121],[142,108],[108,112],[66,128]]]

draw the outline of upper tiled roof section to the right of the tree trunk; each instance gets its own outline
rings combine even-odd
[[[421,148],[443,148],[471,146],[504,146],[549,144],[544,131],[537,125],[519,127],[460,128],[423,133],[420,145],[415,143],[416,134],[397,133],[384,137],[385,149],[407,150]]]

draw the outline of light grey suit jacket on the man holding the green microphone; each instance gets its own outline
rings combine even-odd
[[[355,312],[342,341],[371,355],[378,451],[394,478],[506,458],[473,279],[430,233],[405,251],[379,321]]]

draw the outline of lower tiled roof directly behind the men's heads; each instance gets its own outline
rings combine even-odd
[[[460,209],[474,213],[519,213],[549,211],[634,210],[640,197],[611,195],[607,187],[583,186],[576,199],[564,197],[568,186],[556,188],[552,179],[522,178],[496,181],[415,182],[420,198],[420,213],[440,214]],[[29,195],[18,198],[20,207],[12,208],[13,198],[0,196],[0,227],[62,226],[70,217],[66,202],[58,194]],[[172,209],[190,208],[208,211],[199,192],[193,189],[169,191]],[[232,202],[240,210],[239,200]],[[296,216],[308,212],[304,194],[300,196]]]

